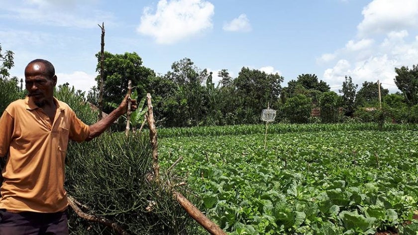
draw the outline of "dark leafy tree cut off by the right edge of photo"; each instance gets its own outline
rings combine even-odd
[[[398,74],[395,76],[395,84],[402,91],[409,105],[418,104],[418,65],[413,65],[412,69],[408,66],[395,68]]]

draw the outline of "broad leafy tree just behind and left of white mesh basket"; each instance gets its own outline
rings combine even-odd
[[[279,74],[266,74],[260,70],[243,67],[234,80],[236,98],[239,101],[239,119],[243,123],[256,123],[260,119],[261,111],[274,106],[279,101],[280,83],[283,77]]]

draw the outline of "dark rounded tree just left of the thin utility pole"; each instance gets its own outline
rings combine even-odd
[[[388,89],[383,89],[380,85],[381,98],[384,99],[389,94]],[[357,92],[355,99],[356,107],[376,106],[379,102],[379,88],[377,82],[363,82],[362,87]]]

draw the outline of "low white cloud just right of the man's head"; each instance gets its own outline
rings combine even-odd
[[[57,85],[69,83],[70,86],[74,86],[76,90],[82,90],[87,93],[90,88],[97,86],[95,78],[97,74],[87,74],[81,71],[75,71],[71,74],[57,73]]]

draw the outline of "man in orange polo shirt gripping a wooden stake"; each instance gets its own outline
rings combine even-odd
[[[128,96],[107,117],[88,126],[53,97],[57,76],[49,61],[31,61],[25,83],[28,96],[12,102],[0,118],[0,157],[7,156],[0,235],[68,235],[64,189],[68,140],[82,142],[100,135],[126,113]]]

